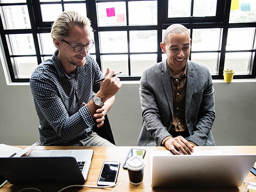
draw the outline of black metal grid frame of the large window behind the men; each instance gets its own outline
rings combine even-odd
[[[131,53],[130,52],[130,39],[129,39],[129,32],[135,30],[156,30],[157,31],[157,52],[147,52],[147,54],[157,54],[157,62],[162,61],[162,50],[160,48],[160,43],[162,42],[162,31],[165,30],[169,25],[174,23],[180,23],[186,26],[188,29],[191,30],[191,37],[193,34],[193,29],[207,29],[207,28],[220,28],[222,29],[222,41],[221,41],[221,48],[220,50],[216,51],[220,54],[219,57],[219,66],[217,75],[212,75],[213,79],[223,79],[222,71],[224,69],[224,61],[225,61],[225,53],[235,53],[235,52],[251,52],[251,65],[252,65],[252,72],[249,75],[235,75],[234,79],[251,79],[256,77],[256,58],[255,58],[255,46],[251,50],[236,50],[236,51],[226,51],[226,40],[227,40],[227,32],[228,29],[231,28],[254,28],[256,26],[255,22],[246,22],[246,23],[229,23],[229,12],[230,12],[230,5],[231,0],[217,0],[217,7],[216,7],[216,16],[215,17],[193,17],[193,3],[194,0],[191,0],[191,17],[188,18],[168,18],[168,0],[157,0],[157,25],[149,25],[149,26],[129,26],[129,12],[128,12],[128,3],[133,1],[155,1],[155,0],[85,0],[85,1],[72,1],[72,2],[64,2],[61,0],[60,2],[40,2],[39,0],[27,0],[26,3],[0,3],[0,8],[2,6],[21,6],[25,5],[28,7],[31,29],[15,29],[15,30],[4,30],[3,21],[0,17],[0,31],[1,31],[1,38],[4,47],[4,52],[6,56],[6,61],[11,77],[12,82],[29,82],[29,78],[16,78],[15,77],[15,68],[11,62],[11,58],[15,57],[37,57],[38,65],[42,62],[41,57],[48,57],[51,55],[43,55],[40,53],[40,44],[38,39],[38,34],[40,33],[50,33],[51,25],[53,22],[43,22],[42,21],[42,14],[40,5],[47,5],[47,4],[61,4],[62,11],[64,11],[64,4],[76,4],[76,3],[85,3],[86,4],[86,13],[87,17],[91,20],[92,28],[95,30],[94,32],[94,40],[95,40],[95,57],[96,61],[101,68],[101,56],[102,55],[118,55],[118,54],[127,54],[128,55],[128,69],[129,69],[129,76],[120,76],[122,81],[136,81],[140,80],[140,76],[133,76],[131,75],[131,62],[130,56],[133,54],[142,54],[142,53]],[[97,15],[96,15],[96,4],[101,2],[125,2],[126,4],[126,26],[115,26],[115,27],[98,27],[97,25]],[[99,49],[99,32],[103,31],[126,31],[127,32],[127,45],[128,51],[127,53],[108,53],[103,54],[100,53]],[[35,55],[10,55],[8,50],[8,43],[6,35],[11,34],[32,34],[34,43],[35,43]],[[254,30],[254,37],[255,37],[256,30]],[[193,41],[193,39],[192,39]],[[255,41],[255,38],[254,38]],[[253,42],[255,45],[255,42]],[[214,52],[214,51],[213,51]],[[191,51],[191,53],[203,53]],[[191,54],[190,54],[191,59]]]

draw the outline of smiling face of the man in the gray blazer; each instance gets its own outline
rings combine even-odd
[[[174,73],[180,73],[186,66],[190,53],[191,39],[187,32],[169,33],[161,49],[167,55],[167,63]]]

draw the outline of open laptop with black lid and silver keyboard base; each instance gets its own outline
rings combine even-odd
[[[0,158],[0,174],[12,184],[83,184],[92,156],[92,149],[32,150],[28,157]]]

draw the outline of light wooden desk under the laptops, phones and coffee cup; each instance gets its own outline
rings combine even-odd
[[[20,146],[25,148],[25,146]],[[138,147],[135,148],[143,148],[146,149],[145,155],[145,172],[144,172],[144,180],[140,185],[133,185],[129,182],[129,176],[127,170],[122,169],[122,164],[129,153],[132,146],[118,146],[118,147],[66,147],[66,146],[36,146],[34,149],[93,149],[94,154],[91,162],[91,167],[89,170],[88,178],[85,182],[86,185],[97,185],[96,181],[100,172],[100,168],[102,163],[105,160],[109,161],[119,161],[121,163],[121,167],[119,170],[117,182],[122,182],[122,184],[118,187],[116,191],[234,191],[234,192],[244,192],[247,184],[242,184],[238,188],[228,188],[228,189],[152,189],[150,184],[150,164],[149,164],[149,151],[151,150],[166,150],[165,147]],[[256,146],[198,146],[195,147],[195,150],[221,150],[224,154],[247,154],[247,153],[256,153]],[[26,153],[28,155],[28,153]],[[49,173],[50,174],[50,173]],[[248,176],[245,179],[246,181],[256,182],[256,176],[254,176],[251,172],[249,172]],[[9,182],[0,189],[0,192],[17,192],[18,190],[30,187],[31,185],[12,185]],[[51,192],[58,191],[64,186],[60,185],[33,185],[34,187],[38,187],[42,192]],[[111,191],[113,188],[108,189],[98,189],[98,188],[79,188],[72,187],[69,189],[65,189],[64,192],[67,191]],[[35,191],[35,190],[31,190]],[[27,191],[26,191],[27,192]]]

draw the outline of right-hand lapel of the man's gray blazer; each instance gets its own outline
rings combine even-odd
[[[194,90],[194,72],[193,72],[193,68],[190,64],[190,62],[188,61],[187,63],[187,85],[186,85],[186,98],[185,98],[185,117],[187,117],[188,114],[188,109],[190,106],[190,102],[191,102],[191,98],[193,95],[193,90]]]

